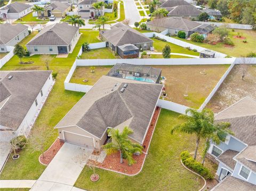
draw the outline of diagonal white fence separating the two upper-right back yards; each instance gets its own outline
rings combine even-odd
[[[206,49],[204,47],[193,45],[193,44],[187,43],[185,41],[175,39],[175,38],[172,38],[172,37],[168,37],[168,36],[165,36],[164,34],[160,34],[160,33],[157,33],[157,32],[145,32],[145,33],[143,33],[143,35],[145,35],[146,37],[149,37],[149,38],[152,38],[155,35],[159,38],[165,39],[169,43],[172,43],[172,44],[175,44],[175,45],[178,45],[178,46],[182,46],[182,47],[185,47],[185,48],[190,47],[191,49],[197,49],[197,52],[201,52],[204,49]],[[154,44],[153,44],[153,46],[154,46]],[[224,57],[227,56],[227,54],[223,54],[223,53],[216,52],[216,51],[213,51],[213,52],[215,52],[215,57],[217,57],[217,58],[218,57],[224,58]]]

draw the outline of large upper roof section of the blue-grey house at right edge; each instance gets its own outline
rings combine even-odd
[[[215,115],[215,121],[230,123],[234,136],[247,145],[256,145],[256,101],[245,97]]]

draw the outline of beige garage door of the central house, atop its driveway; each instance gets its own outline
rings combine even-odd
[[[94,147],[93,138],[85,137],[82,135],[73,134],[71,132],[63,131],[64,138],[66,142],[73,143],[76,145]]]

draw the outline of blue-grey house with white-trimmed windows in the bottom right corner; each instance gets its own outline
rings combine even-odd
[[[210,145],[208,154],[219,163],[216,175],[220,181],[212,190],[256,190],[255,99],[241,99],[215,115],[215,120],[229,122],[234,135],[219,145]]]

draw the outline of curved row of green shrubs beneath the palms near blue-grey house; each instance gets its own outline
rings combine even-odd
[[[190,156],[188,151],[183,151],[180,154],[182,163],[189,169],[195,171],[205,179],[213,179],[214,176],[209,169],[205,168],[201,163],[197,162]]]

